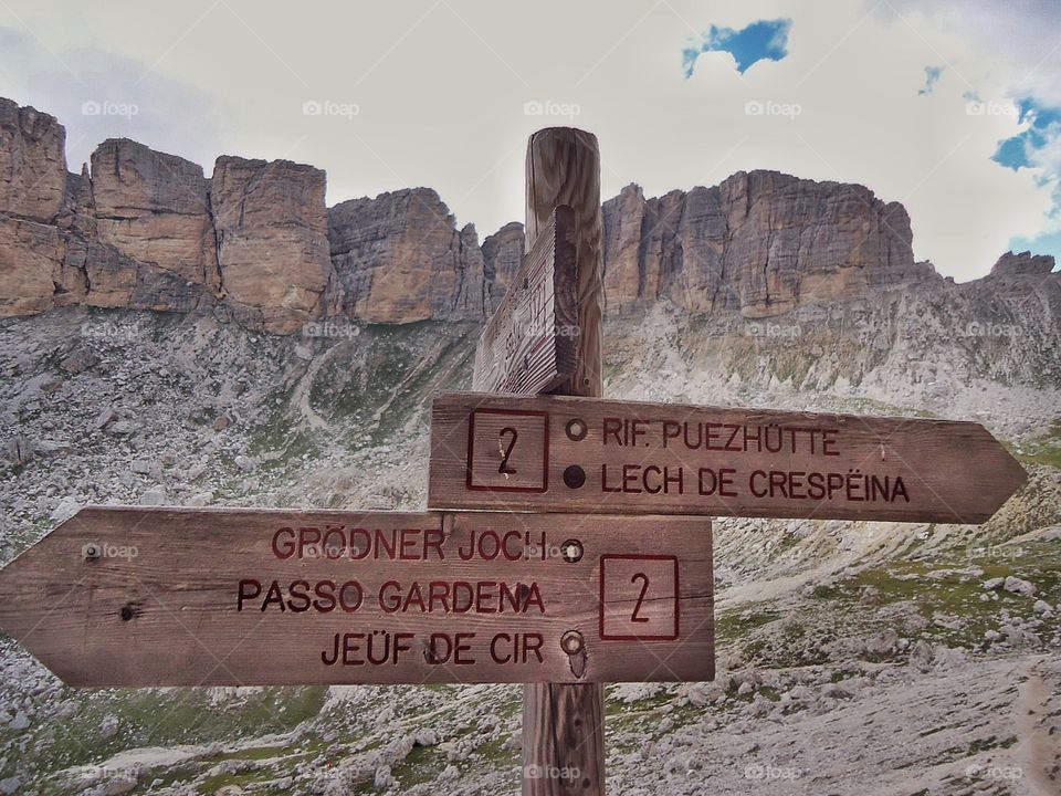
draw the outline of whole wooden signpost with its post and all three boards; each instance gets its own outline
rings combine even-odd
[[[527,683],[524,796],[602,796],[602,683],[714,675],[702,515],[975,523],[1025,482],[975,423],[601,399],[597,139],[539,130],[526,186],[435,511],[84,509],[0,627],[74,685]]]

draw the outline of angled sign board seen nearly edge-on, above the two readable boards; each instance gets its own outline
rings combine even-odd
[[[479,338],[472,389],[534,394],[568,385],[577,363],[575,289],[575,211],[564,205]]]

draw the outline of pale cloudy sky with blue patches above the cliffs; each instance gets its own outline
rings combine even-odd
[[[776,169],[903,202],[958,281],[1061,256],[1057,0],[0,0],[0,96],[59,117],[71,170],[108,137],[285,158],[329,205],[434,188],[481,238],[571,125],[605,198]]]

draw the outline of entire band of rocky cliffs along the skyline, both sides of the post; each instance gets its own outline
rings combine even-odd
[[[438,193],[416,188],[325,207],[325,174],[285,160],[200,166],[127,139],[69,174],[65,130],[0,101],[0,317],[72,303],[210,310],[255,329],[307,321],[482,321],[523,256],[523,228],[480,245]],[[939,284],[915,263],[910,218],[861,186],[774,171],[605,202],[608,312],[658,301],[765,318]],[[1049,276],[1052,258],[1005,255],[994,276]]]

